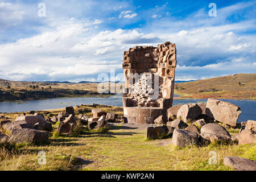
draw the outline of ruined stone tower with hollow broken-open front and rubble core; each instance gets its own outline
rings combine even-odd
[[[174,97],[176,46],[170,42],[152,46],[135,46],[124,52],[125,122],[154,123],[159,115],[167,117]]]

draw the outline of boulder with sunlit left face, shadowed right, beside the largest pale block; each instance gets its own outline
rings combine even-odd
[[[177,118],[181,118],[184,122],[188,119],[193,120],[202,113],[201,108],[197,104],[184,104],[177,112]]]

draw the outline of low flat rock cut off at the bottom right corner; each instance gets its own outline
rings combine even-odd
[[[224,158],[224,165],[234,168],[236,171],[256,171],[256,161],[240,158],[237,156],[228,156]]]

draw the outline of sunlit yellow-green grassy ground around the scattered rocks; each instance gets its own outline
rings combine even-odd
[[[85,105],[84,114],[92,108],[122,114],[122,107]],[[48,110],[47,115],[64,109]],[[46,111],[39,111],[46,112]],[[78,113],[77,113],[78,114]],[[9,114],[9,117],[15,115]],[[57,129],[57,125],[53,125]],[[236,135],[239,129],[230,129]],[[57,137],[52,133],[48,144],[20,144],[10,152],[1,147],[0,170],[232,170],[225,167],[225,156],[241,156],[256,160],[256,145],[210,144],[177,148],[171,138],[147,140],[146,126],[115,123],[109,131],[84,131],[76,137]],[[46,152],[46,164],[38,163],[38,152]],[[209,152],[215,151],[217,164],[209,164]]]

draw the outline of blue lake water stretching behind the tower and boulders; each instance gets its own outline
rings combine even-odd
[[[178,96],[175,96],[178,97]],[[238,122],[247,121],[248,119],[256,120],[256,101],[254,100],[225,100],[241,107],[242,113]],[[207,99],[177,99],[173,105],[207,102]],[[1,113],[14,113],[31,110],[59,109],[65,106],[75,106],[81,104],[103,104],[112,106],[122,106],[122,96],[113,96],[108,98],[97,97],[79,97],[79,98],[52,98],[47,100],[34,100],[22,102],[0,102]]]

